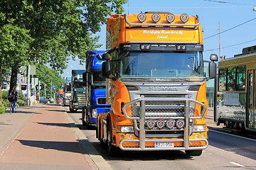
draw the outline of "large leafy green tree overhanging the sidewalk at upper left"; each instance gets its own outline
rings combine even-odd
[[[4,43],[19,49],[16,51],[0,46],[0,77],[2,66],[11,67],[12,90],[16,86],[17,68],[24,61],[50,63],[50,67],[63,72],[69,56],[85,60],[87,50],[99,47],[96,45],[99,37],[92,38],[92,33],[100,31],[100,26],[113,11],[122,12],[122,4],[125,2],[126,0],[0,1],[0,30],[6,30],[6,34],[0,37],[0,42],[7,37],[8,40]],[[16,28],[18,32],[14,34],[12,28]]]

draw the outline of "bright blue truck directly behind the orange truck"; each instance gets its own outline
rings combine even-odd
[[[82,125],[96,125],[99,113],[110,111],[110,105],[106,104],[106,81],[102,77],[101,56],[105,51],[87,51],[86,72],[83,74],[84,86],[86,86],[86,104],[82,108]]]

